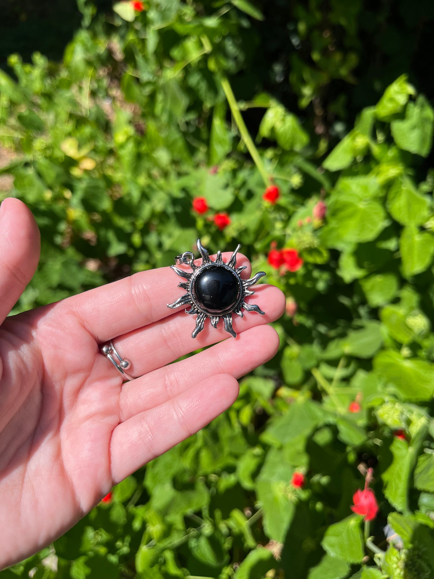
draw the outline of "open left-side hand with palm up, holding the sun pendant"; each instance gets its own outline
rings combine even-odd
[[[237,398],[236,379],[276,353],[278,336],[263,324],[285,307],[281,291],[260,285],[250,300],[265,316],[236,316],[235,340],[225,339],[222,322],[193,339],[192,317],[167,307],[182,290],[162,267],[6,318],[38,260],[31,212],[17,199],[3,201],[0,568],[51,543],[113,485],[225,411]],[[244,256],[237,265],[251,274]],[[111,338],[139,378],[122,384],[100,353]]]

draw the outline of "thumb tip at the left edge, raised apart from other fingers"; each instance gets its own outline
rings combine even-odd
[[[30,209],[8,197],[0,206],[0,324],[33,277],[40,251],[41,236]]]

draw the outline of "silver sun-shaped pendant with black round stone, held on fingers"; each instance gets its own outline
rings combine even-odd
[[[211,318],[213,328],[216,328],[220,318],[223,318],[226,332],[236,338],[237,334],[232,327],[233,313],[241,318],[244,315],[241,309],[245,309],[247,312],[257,312],[262,316],[265,313],[259,306],[245,302],[247,296],[255,293],[250,291],[249,287],[256,284],[265,275],[265,272],[258,272],[249,280],[241,279],[240,273],[246,269],[245,265],[236,267],[237,252],[240,250],[241,244],[238,244],[227,263],[223,262],[221,251],[218,252],[216,260],[211,261],[208,251],[200,243],[200,239],[197,240],[196,245],[202,256],[200,266],[194,263],[194,255],[191,251],[186,251],[175,258],[177,265],[180,263],[189,265],[192,268],[192,273],[184,272],[174,265],[171,266],[179,277],[187,280],[178,285],[178,287],[187,290],[187,293],[176,302],[168,304],[167,307],[174,309],[179,306],[191,306],[185,312],[197,316],[192,338],[196,338],[197,334],[204,329],[206,318]]]

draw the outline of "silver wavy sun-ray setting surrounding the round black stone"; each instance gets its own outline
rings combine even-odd
[[[173,265],[171,266],[171,268],[179,277],[183,277],[185,278],[185,280],[187,280],[181,282],[178,285],[178,287],[187,290],[187,293],[181,296],[181,298],[178,298],[174,303],[168,304],[167,307],[174,309],[175,307],[184,305],[191,306],[190,309],[189,310],[186,309],[185,312],[187,314],[196,314],[197,316],[196,328],[194,328],[193,330],[192,338],[196,338],[197,334],[204,329],[204,324],[207,317],[210,318],[211,325],[214,328],[217,327],[220,318],[223,318],[223,321],[225,323],[225,330],[229,332],[231,336],[236,338],[237,334],[232,327],[233,313],[237,314],[240,317],[244,316],[241,309],[244,309],[247,312],[256,312],[258,314],[261,314],[262,316],[265,313],[260,309],[259,306],[251,305],[245,302],[245,298],[247,298],[247,296],[253,295],[255,293],[254,291],[249,290],[249,287],[251,287],[251,285],[258,283],[260,278],[265,275],[265,272],[258,272],[256,273],[255,276],[253,276],[248,280],[243,280],[241,278],[240,273],[242,272],[242,270],[246,268],[246,266],[242,265],[240,267],[236,267],[237,252],[238,250],[240,250],[241,247],[240,244],[238,244],[236,250],[233,252],[229,262],[227,263],[223,262],[221,251],[217,253],[216,260],[211,261],[211,259],[209,259],[208,251],[200,243],[200,239],[197,240],[196,244],[197,249],[202,257],[202,263],[200,266],[197,266],[194,263],[194,255],[191,251],[186,251],[182,255],[176,256],[175,263],[177,265],[179,265],[180,263],[183,263],[184,265],[189,265],[192,268],[192,273],[185,272],[182,269],[179,269],[178,267],[175,267]],[[237,302],[234,303],[229,309],[221,310],[221,312],[218,313],[210,313],[207,309],[204,309],[204,307],[201,306],[200,303],[198,303],[197,296],[194,293],[194,282],[196,281],[197,276],[205,269],[207,269],[207,267],[215,265],[224,267],[234,275],[240,286],[240,295],[238,296]]]

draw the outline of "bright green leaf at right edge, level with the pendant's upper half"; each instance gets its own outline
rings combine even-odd
[[[424,272],[431,265],[434,255],[434,236],[418,232],[414,226],[403,229],[399,240],[402,272],[407,279]]]

